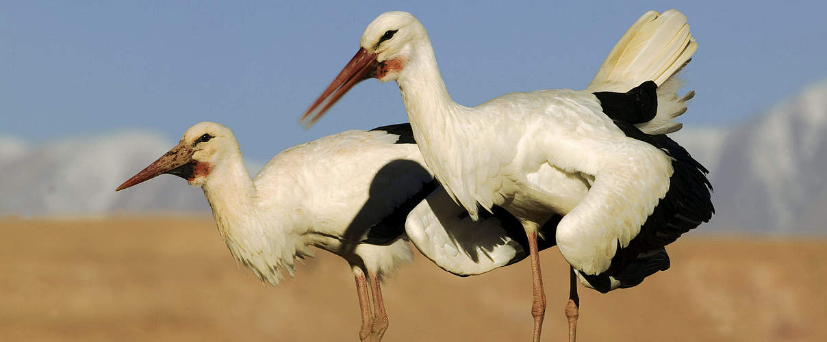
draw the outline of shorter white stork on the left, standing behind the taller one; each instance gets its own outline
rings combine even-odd
[[[394,144],[398,139],[387,131],[328,135],[284,150],[250,179],[232,131],[201,122],[118,190],[161,173],[200,186],[232,256],[273,285],[283,278],[282,271],[293,275],[295,259],[313,255],[311,246],[342,256],[360,290],[360,336],[380,339],[387,326],[380,307],[380,276],[409,261],[411,251],[399,239],[401,229],[389,245],[349,241],[365,238],[373,225],[432,181],[428,170],[414,167],[422,164],[416,145]],[[365,273],[374,296],[373,314],[366,304]]]

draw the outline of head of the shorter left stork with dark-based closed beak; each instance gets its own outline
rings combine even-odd
[[[195,186],[203,186],[219,162],[234,150],[238,150],[238,143],[229,128],[215,122],[199,122],[184,132],[184,136],[172,150],[129,178],[115,191],[129,188],[163,173],[184,178]]]

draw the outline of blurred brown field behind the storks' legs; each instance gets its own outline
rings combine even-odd
[[[211,217],[0,220],[0,340],[354,341],[347,264],[279,287],[238,268]],[[827,340],[827,240],[688,236],[641,286],[581,287],[581,341]],[[566,340],[568,269],[543,254],[543,340]],[[530,340],[528,263],[457,278],[418,257],[385,283],[387,341]]]

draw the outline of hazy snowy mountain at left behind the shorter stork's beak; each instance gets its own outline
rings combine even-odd
[[[52,140],[36,146],[0,137],[0,214],[207,211],[202,192],[171,175],[115,192],[173,145],[144,132]]]

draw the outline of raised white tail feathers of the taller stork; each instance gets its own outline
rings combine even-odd
[[[681,124],[673,119],[686,112],[687,101],[694,93],[678,97],[683,82],[677,74],[697,49],[683,13],[673,9],[663,14],[646,12],[620,37],[587,89],[625,93],[640,83],[654,81],[657,114],[652,121],[635,126],[648,134],[678,131]]]

